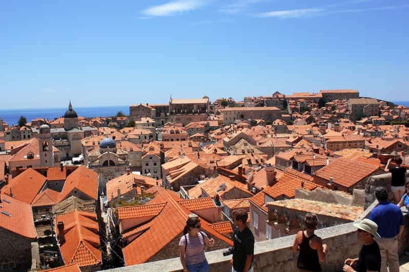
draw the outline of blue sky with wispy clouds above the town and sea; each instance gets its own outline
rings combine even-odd
[[[409,100],[408,1],[2,1],[0,108],[353,88]]]

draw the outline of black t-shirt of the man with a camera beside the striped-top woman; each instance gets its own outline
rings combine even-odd
[[[244,229],[243,232],[237,229],[234,232],[233,243],[233,267],[237,272],[241,272],[246,264],[247,255],[254,254],[254,236],[249,228]],[[251,262],[253,265],[253,258]]]

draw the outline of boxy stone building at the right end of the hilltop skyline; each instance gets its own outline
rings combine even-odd
[[[353,98],[348,100],[350,119],[356,121],[362,117],[379,116],[379,102],[375,98]]]

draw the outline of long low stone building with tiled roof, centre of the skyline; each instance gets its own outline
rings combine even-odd
[[[281,118],[281,110],[276,107],[227,107],[220,109],[221,119],[225,125],[236,120],[263,119],[276,120]]]

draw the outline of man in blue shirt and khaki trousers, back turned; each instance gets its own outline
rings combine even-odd
[[[381,251],[381,272],[399,272],[398,241],[405,227],[403,215],[398,206],[387,200],[387,190],[384,187],[375,189],[375,197],[379,205],[369,214],[369,219],[377,223],[377,239]]]

